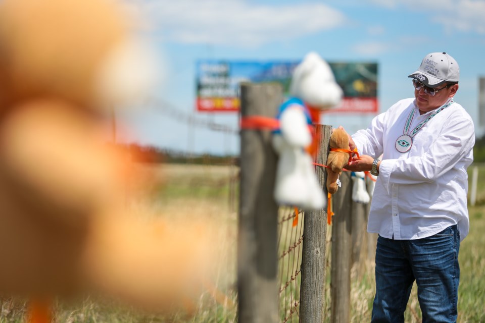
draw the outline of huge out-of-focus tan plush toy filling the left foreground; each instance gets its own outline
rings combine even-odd
[[[130,27],[109,0],[0,3],[1,294],[161,310],[201,285],[209,225],[135,217],[134,170],[105,143],[107,108],[157,73]]]

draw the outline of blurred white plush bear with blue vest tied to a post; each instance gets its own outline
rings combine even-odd
[[[313,140],[310,110],[331,109],[341,102],[343,92],[330,66],[315,52],[296,67],[289,92],[291,97],[277,116],[279,129],[273,134],[273,147],[279,154],[274,197],[279,204],[320,209],[325,198],[306,149]]]

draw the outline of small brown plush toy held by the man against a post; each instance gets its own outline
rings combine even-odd
[[[338,177],[349,162],[350,146],[347,132],[343,129],[333,130],[330,136],[330,153],[327,158],[327,191],[330,194],[338,190]],[[335,149],[335,150],[334,150]]]

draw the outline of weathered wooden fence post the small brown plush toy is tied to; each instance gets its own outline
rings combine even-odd
[[[326,165],[331,126],[316,125],[319,140],[317,164]],[[316,167],[316,176],[327,194],[326,172]],[[300,286],[300,322],[320,323],[325,317],[325,247],[327,236],[326,209],[305,212],[303,225],[302,281]]]

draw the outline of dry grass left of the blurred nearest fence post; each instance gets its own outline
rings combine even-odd
[[[234,168],[187,165],[138,165],[130,189],[139,191],[127,198],[133,213],[166,219],[205,221],[216,243],[214,271],[205,289],[190,311],[150,314],[121,306],[107,299],[85,297],[81,300],[58,299],[54,302],[56,322],[230,322],[236,315],[236,213],[230,201],[230,178]],[[148,182],[148,186],[140,186]],[[127,190],[129,189],[127,187]],[[232,198],[235,194],[232,193]],[[232,208],[232,209],[231,209]],[[167,246],[170,247],[170,246]],[[171,264],[167,264],[171,265]],[[194,268],[197,271],[197,268]],[[0,323],[23,322],[27,301],[0,299]]]

